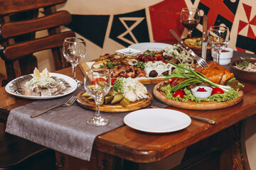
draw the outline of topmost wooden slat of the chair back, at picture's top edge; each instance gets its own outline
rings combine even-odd
[[[67,0],[0,0],[0,15],[63,4]]]

